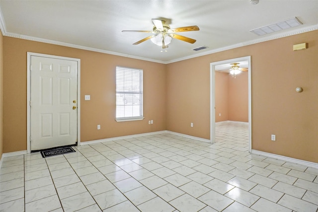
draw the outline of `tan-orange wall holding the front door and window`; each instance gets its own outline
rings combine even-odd
[[[3,152],[26,150],[27,52],[80,59],[80,140],[166,129],[166,66],[120,56],[3,37]],[[116,122],[116,66],[144,70],[143,121]],[[84,101],[90,95],[90,101]],[[148,120],[154,120],[153,125]],[[96,129],[97,124],[101,130]]]

